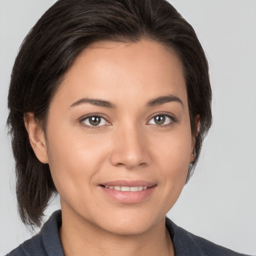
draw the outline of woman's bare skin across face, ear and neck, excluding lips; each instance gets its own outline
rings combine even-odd
[[[167,95],[175,100],[148,104]],[[92,126],[90,114],[104,119]],[[155,122],[159,115],[164,124]],[[54,95],[46,134],[32,113],[24,120],[60,195],[66,256],[174,255],[165,214],[184,186],[194,137],[182,64],[173,51],[148,40],[94,43],[76,58]],[[146,198],[123,203],[102,189],[113,180],[154,186]]]

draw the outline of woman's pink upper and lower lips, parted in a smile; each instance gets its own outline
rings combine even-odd
[[[146,189],[140,191],[119,191],[110,189],[105,186],[147,186]],[[120,203],[138,203],[149,199],[154,191],[156,184],[145,180],[114,180],[104,182],[98,186],[101,191],[111,200]]]

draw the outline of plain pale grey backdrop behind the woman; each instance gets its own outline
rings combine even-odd
[[[19,45],[54,0],[0,0],[0,255],[32,236],[20,222],[7,136],[7,90]],[[256,1],[170,0],[205,50],[213,125],[200,161],[167,214],[217,244],[256,254]],[[171,195],[170,195],[171,196]],[[45,219],[59,208],[55,198]]]

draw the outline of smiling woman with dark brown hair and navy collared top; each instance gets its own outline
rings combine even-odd
[[[57,1],[15,61],[8,124],[21,219],[9,255],[241,255],[165,219],[211,124],[207,61],[167,2]],[[165,226],[166,225],[166,226]]]

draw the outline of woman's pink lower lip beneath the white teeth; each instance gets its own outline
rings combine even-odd
[[[115,189],[109,189],[104,186],[99,186],[110,198],[117,202],[122,203],[137,203],[141,202],[152,194],[155,186],[147,187],[146,189],[140,191],[119,191]]]

